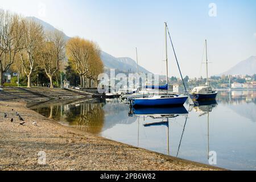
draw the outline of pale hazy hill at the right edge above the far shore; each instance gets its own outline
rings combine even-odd
[[[221,73],[222,75],[254,75],[256,74],[256,56],[251,56],[248,59],[241,61],[229,71]]]

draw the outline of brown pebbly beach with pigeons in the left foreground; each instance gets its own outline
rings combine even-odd
[[[7,106],[8,105],[8,106]],[[13,110],[12,110],[13,109]],[[19,123],[16,111],[26,121]],[[7,114],[7,118],[3,117]],[[14,122],[11,122],[11,118]],[[38,126],[32,125],[37,122]],[[38,153],[46,153],[46,164]],[[0,101],[0,170],[221,170],[97,137]]]

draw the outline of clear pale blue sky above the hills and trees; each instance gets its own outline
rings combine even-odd
[[[139,64],[153,73],[166,72],[164,22],[183,75],[205,77],[204,65],[200,69],[205,39],[210,75],[256,56],[255,0],[0,0],[0,7],[36,16],[68,36],[94,40],[115,57],[135,60],[138,47]],[[170,44],[168,51],[170,76],[179,76]]]

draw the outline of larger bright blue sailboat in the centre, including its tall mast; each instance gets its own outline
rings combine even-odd
[[[183,106],[187,101],[188,96],[181,96],[178,94],[168,94],[168,54],[167,54],[167,23],[164,23],[165,39],[166,39],[166,81],[167,84],[159,86],[158,88],[167,90],[164,94],[147,98],[133,98],[131,105],[133,107],[166,107],[166,106]],[[169,34],[170,35],[170,34]]]

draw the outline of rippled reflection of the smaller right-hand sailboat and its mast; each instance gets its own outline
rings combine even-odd
[[[193,101],[194,107],[193,110],[196,113],[200,113],[199,117],[202,117],[203,115],[207,115],[207,125],[208,125],[208,151],[207,151],[207,157],[209,160],[210,156],[210,113],[213,111],[213,108],[215,108],[218,104],[216,100],[212,101]]]

